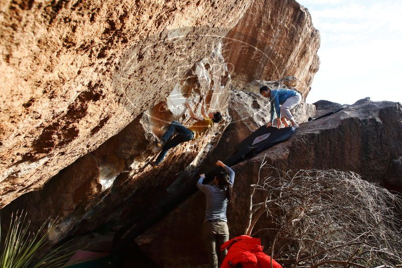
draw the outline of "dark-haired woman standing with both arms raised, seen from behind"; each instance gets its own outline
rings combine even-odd
[[[210,268],[218,268],[219,262],[222,263],[227,254],[227,250],[220,251],[221,245],[229,240],[228,219],[226,208],[232,200],[232,186],[235,180],[235,172],[226,166],[222,161],[216,163],[225,171],[221,171],[215,176],[213,185],[204,185],[205,175],[199,175],[197,188],[201,190],[207,198],[207,209],[204,220],[203,238],[207,247]]]

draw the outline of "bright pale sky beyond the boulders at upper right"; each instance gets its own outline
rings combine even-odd
[[[402,0],[296,0],[320,31],[307,102],[370,97],[402,103]]]

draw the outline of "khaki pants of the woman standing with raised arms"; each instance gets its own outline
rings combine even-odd
[[[221,245],[229,240],[228,224],[225,221],[207,221],[204,223],[203,230],[204,243],[207,247],[210,268],[218,268],[219,262],[222,263],[228,251],[221,251]]]

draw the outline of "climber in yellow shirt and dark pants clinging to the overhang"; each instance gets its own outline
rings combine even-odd
[[[203,117],[195,115],[195,113],[191,109],[191,106],[187,102],[185,103],[191,118],[196,120],[196,122],[187,128],[184,125],[180,124],[178,121],[172,121],[160,141],[158,141],[157,139],[155,141],[157,147],[163,146],[163,148],[156,158],[155,162],[149,163],[151,166],[156,168],[162,162],[169,149],[176,147],[181,143],[198,139],[207,130],[209,130],[214,125],[214,123],[218,123],[222,120],[222,115],[219,111],[210,112],[209,114],[207,114],[205,111],[204,102],[205,101],[203,99],[201,103],[201,114],[203,115]],[[168,141],[174,132],[177,133],[176,136]]]

